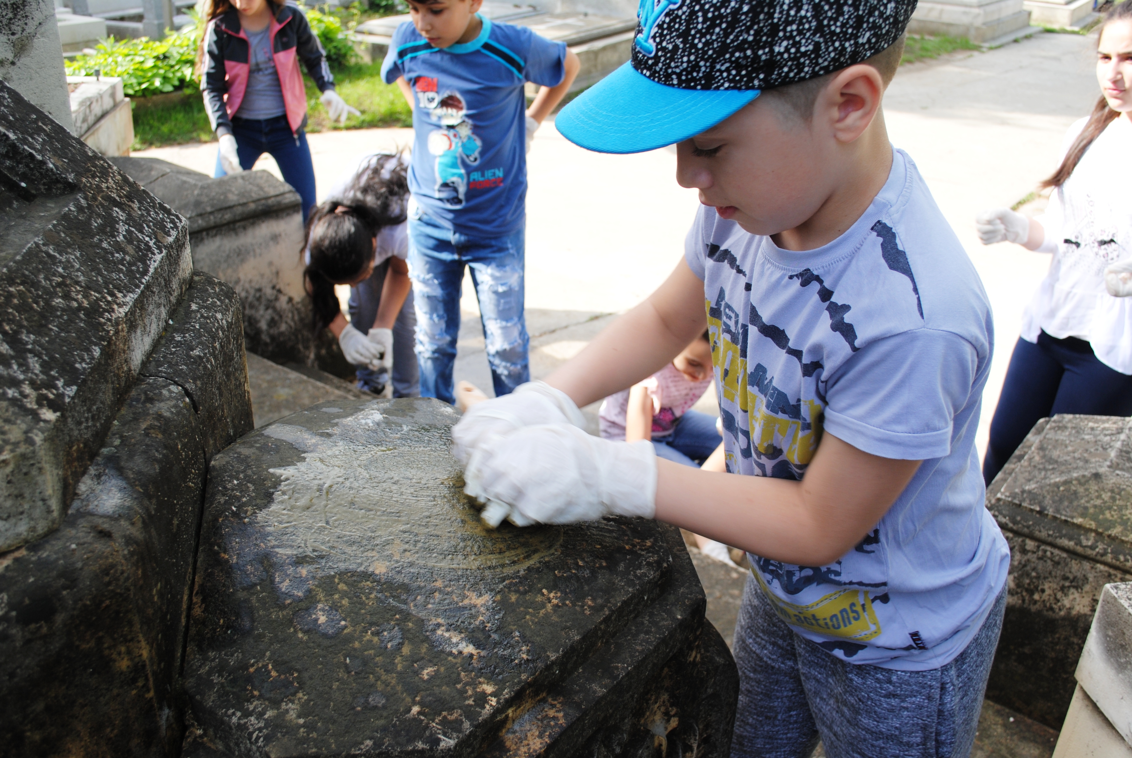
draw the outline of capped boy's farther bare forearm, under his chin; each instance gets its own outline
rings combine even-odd
[[[703,282],[684,261],[649,299],[604,329],[547,384],[586,406],[651,376],[704,330]]]

